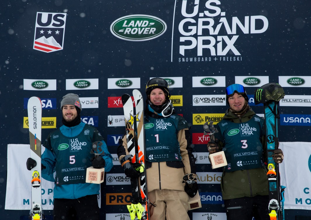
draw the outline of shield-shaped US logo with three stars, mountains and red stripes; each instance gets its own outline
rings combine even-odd
[[[66,13],[37,12],[33,49],[50,53],[63,49]]]

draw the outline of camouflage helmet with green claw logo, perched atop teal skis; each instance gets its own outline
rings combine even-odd
[[[255,90],[255,104],[267,103],[270,100],[279,102],[285,96],[284,89],[277,83],[267,83]]]

